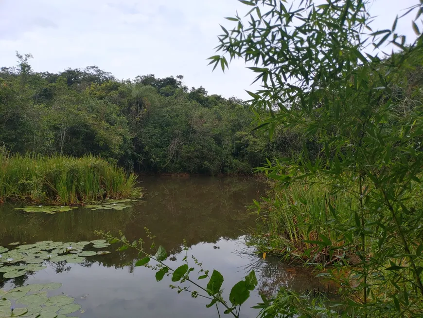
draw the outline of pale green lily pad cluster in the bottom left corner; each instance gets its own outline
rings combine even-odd
[[[81,309],[75,299],[66,295],[48,297],[61,283],[31,284],[9,291],[0,289],[0,317],[66,318]]]

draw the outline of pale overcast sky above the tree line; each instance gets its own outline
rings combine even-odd
[[[371,0],[373,30],[390,29],[401,10],[419,0]],[[118,79],[184,75],[188,87],[249,99],[254,74],[235,60],[225,74],[207,66],[219,24],[248,8],[238,0],[0,0],[0,66],[31,53],[36,72],[97,65]],[[233,22],[232,22],[233,23]],[[399,33],[415,37],[410,18]]]

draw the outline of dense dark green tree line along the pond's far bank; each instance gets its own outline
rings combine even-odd
[[[9,152],[100,155],[144,172],[250,173],[301,151],[252,129],[248,103],[184,86],[183,76],[117,80],[97,66],[34,72],[30,54],[0,70],[0,144]]]

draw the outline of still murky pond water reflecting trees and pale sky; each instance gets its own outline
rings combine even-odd
[[[318,287],[314,275],[301,268],[264,260],[251,254],[245,235],[254,226],[254,215],[247,206],[265,193],[263,182],[235,177],[142,177],[145,198],[122,211],[78,208],[58,214],[26,213],[16,205],[0,206],[0,246],[10,243],[52,240],[79,242],[98,239],[96,230],[117,234],[122,231],[132,240],[147,241],[144,227],[156,235],[173,268],[182,264],[182,242],[207,269],[220,271],[225,278],[224,295],[241,280],[252,265],[257,266],[259,289],[270,293],[280,286],[297,291]],[[46,262],[47,268],[15,279],[3,279],[0,287],[10,289],[32,283],[60,282],[56,293],[69,295],[80,304],[81,318],[114,317],[217,317],[206,309],[207,299],[192,299],[169,288],[170,277],[157,282],[155,273],[144,266],[134,267],[137,253],[117,252],[92,256],[81,264]],[[182,253],[183,252],[183,253]],[[196,273],[195,273],[196,274]],[[0,274],[1,275],[1,274]],[[205,282],[207,283],[207,282]],[[250,307],[260,302],[257,292],[242,308],[242,317],[255,317]]]

